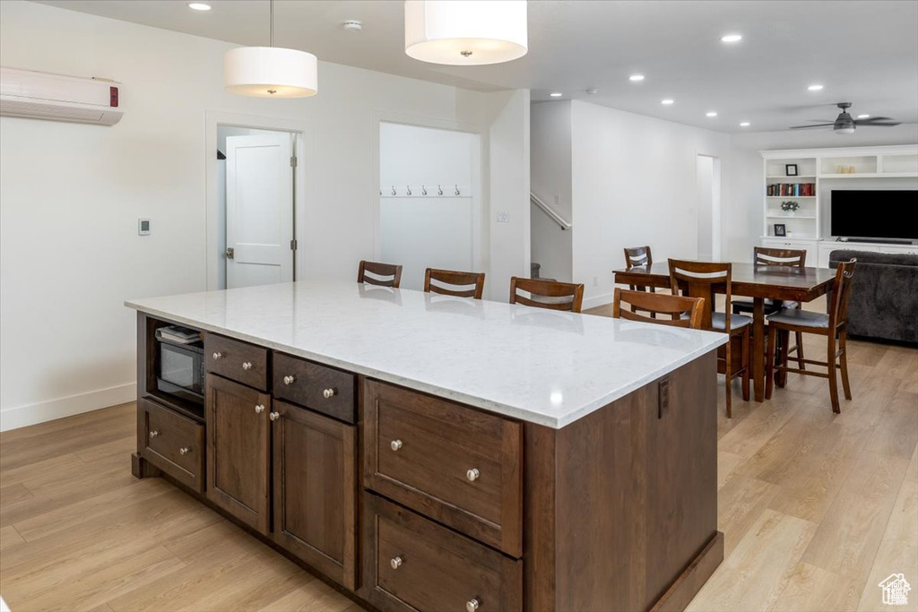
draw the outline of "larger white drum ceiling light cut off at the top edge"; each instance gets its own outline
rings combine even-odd
[[[420,61],[477,66],[529,50],[526,0],[406,0],[405,53]]]

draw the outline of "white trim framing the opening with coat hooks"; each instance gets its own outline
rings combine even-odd
[[[464,132],[477,137],[476,146],[472,148],[472,264],[475,270],[489,270],[490,258],[487,245],[490,244],[490,224],[487,223],[489,215],[489,202],[487,195],[482,189],[482,184],[487,179],[487,168],[489,158],[487,156],[488,129],[482,125],[465,122],[453,121],[449,119],[438,119],[434,117],[420,117],[418,115],[409,115],[395,112],[377,111],[371,118],[372,121],[372,138],[370,149],[373,152],[373,184],[371,185],[372,194],[376,205],[373,207],[373,257],[378,260],[382,253],[382,235],[380,228],[380,217],[382,203],[379,199],[379,130],[383,123],[395,123],[411,128],[431,128],[442,129],[453,132]]]

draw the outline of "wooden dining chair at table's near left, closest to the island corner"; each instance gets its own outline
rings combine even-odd
[[[717,372],[726,376],[726,412],[727,418],[731,418],[731,383],[734,378],[741,377],[743,400],[749,401],[749,338],[752,328],[752,317],[733,315],[730,308],[725,312],[717,312],[714,309],[718,294],[726,295],[726,304],[731,303],[733,265],[718,261],[668,261],[669,283],[673,295],[703,297],[708,306],[702,312],[701,328],[730,335],[730,341],[718,349]]]

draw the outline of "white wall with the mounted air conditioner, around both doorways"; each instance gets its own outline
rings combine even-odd
[[[480,125],[493,149],[486,193],[511,213],[488,228],[489,272],[507,284],[528,270],[528,92],[480,94],[320,62],[317,96],[230,95],[230,47],[0,3],[4,65],[113,78],[126,111],[111,128],[0,118],[0,428],[129,401],[136,332],[123,301],[206,288],[207,111],[308,123],[306,277],[352,278],[357,261],[377,254],[381,113]],[[137,236],[138,217],[151,217],[150,236]]]

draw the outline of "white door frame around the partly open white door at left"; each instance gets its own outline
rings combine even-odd
[[[308,185],[306,172],[312,167],[308,155],[315,150],[312,146],[312,125],[308,121],[286,117],[263,117],[259,115],[245,115],[230,113],[228,111],[207,110],[205,116],[205,224],[206,224],[206,251],[205,274],[207,291],[218,289],[218,268],[220,258],[217,252],[218,228],[218,188],[217,188],[217,130],[218,126],[233,126],[236,128],[270,129],[280,132],[290,132],[297,135],[294,139],[294,151],[297,155],[297,167],[294,169],[294,236],[300,239],[305,235],[306,228],[306,203],[308,201]],[[378,149],[378,147],[377,147]],[[377,153],[378,154],[378,153]],[[377,170],[378,172],[378,170]],[[302,276],[306,269],[303,253],[299,244],[294,254],[294,281]]]

